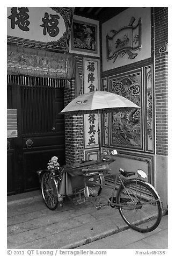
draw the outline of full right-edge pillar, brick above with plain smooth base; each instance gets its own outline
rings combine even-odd
[[[167,72],[168,12],[166,7],[154,8],[155,25],[155,122],[156,122],[156,187],[164,207],[167,204]]]

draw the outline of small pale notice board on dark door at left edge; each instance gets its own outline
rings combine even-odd
[[[7,111],[8,138],[18,137],[17,109],[8,109]]]

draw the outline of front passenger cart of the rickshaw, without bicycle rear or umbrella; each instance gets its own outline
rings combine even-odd
[[[114,160],[104,161],[83,161],[82,163],[63,166],[62,179],[59,175],[49,170],[39,170],[38,176],[41,182],[42,197],[46,206],[50,210],[55,210],[58,205],[62,206],[63,197],[69,197],[78,203],[82,202],[85,196],[84,188],[86,186],[93,187],[94,193],[100,195],[102,187],[99,184],[104,184],[103,175],[110,169],[109,164]],[[89,182],[95,182],[98,185]]]

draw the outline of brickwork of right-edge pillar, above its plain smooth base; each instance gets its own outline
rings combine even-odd
[[[156,154],[167,155],[167,52],[159,53],[165,47],[168,33],[167,8],[156,7],[155,13],[155,106],[156,106]]]

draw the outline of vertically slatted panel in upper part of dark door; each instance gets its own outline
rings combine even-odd
[[[21,86],[23,134],[52,132],[55,88]]]

